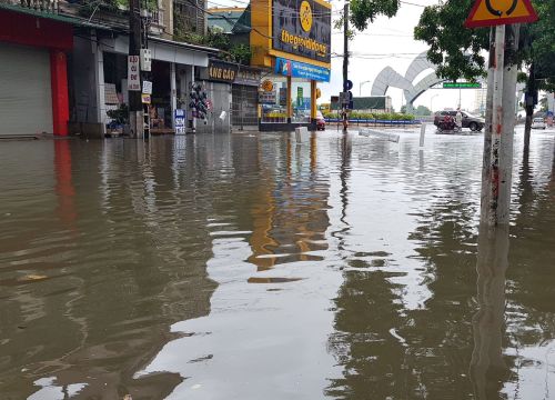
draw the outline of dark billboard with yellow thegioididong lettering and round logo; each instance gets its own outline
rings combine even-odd
[[[332,9],[321,0],[272,0],[272,47],[330,62]]]

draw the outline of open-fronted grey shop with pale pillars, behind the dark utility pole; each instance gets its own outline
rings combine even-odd
[[[150,132],[174,132],[173,117],[178,109],[185,111],[188,131],[194,131],[202,121],[194,120],[189,109],[191,87],[200,70],[208,67],[209,54],[216,50],[160,38],[150,38],[149,49],[152,68],[143,77],[152,82],[150,103],[145,106]],[[128,50],[128,37],[123,34],[102,37],[102,32],[97,31],[90,39],[75,38],[73,96],[80,130],[88,127],[91,136],[103,136],[112,129],[115,129],[115,133],[121,132],[121,124],[117,123],[113,111],[124,110],[129,104]]]

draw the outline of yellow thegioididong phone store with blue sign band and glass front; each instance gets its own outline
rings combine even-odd
[[[253,0],[251,64],[263,68],[262,131],[315,130],[316,86],[330,81],[331,4],[323,0]]]

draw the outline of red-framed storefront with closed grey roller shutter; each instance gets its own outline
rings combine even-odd
[[[0,9],[0,137],[68,134],[72,40],[70,22]]]

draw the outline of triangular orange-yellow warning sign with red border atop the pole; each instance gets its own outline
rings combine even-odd
[[[464,26],[481,28],[535,21],[537,13],[531,0],[476,0]]]

